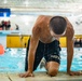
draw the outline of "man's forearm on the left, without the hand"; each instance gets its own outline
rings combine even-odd
[[[39,39],[32,36],[30,39],[30,46],[28,51],[28,70],[30,72],[33,71],[33,62],[35,62],[35,55],[36,55],[38,42],[39,42]]]

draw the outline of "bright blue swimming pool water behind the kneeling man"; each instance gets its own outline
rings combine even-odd
[[[67,52],[66,48],[60,52],[59,71],[67,70]],[[5,53],[0,55],[0,72],[23,72],[25,68],[26,49],[5,49]],[[71,70],[82,70],[82,48],[74,48],[74,56]],[[45,71],[44,68],[36,71]]]

